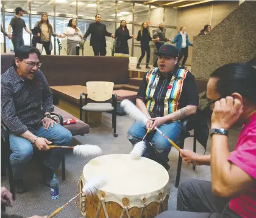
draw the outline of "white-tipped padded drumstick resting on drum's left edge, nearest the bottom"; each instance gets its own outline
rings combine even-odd
[[[61,206],[60,208],[56,209],[54,211],[54,213],[52,213],[50,216],[48,216],[48,218],[52,218],[54,216],[56,216],[57,214],[60,213],[60,211],[62,211],[63,208],[65,208],[66,206],[69,205],[70,202],[72,202],[74,199],[76,199],[76,197],[80,196],[80,194],[84,193],[84,194],[94,194],[99,188],[101,188],[102,186],[105,185],[105,183],[107,183],[107,180],[105,179],[105,177],[101,176],[99,178],[93,179],[89,182],[87,182],[85,184],[85,187],[82,189],[82,191],[77,194],[76,196],[74,196],[72,199],[70,199],[68,202],[65,203],[65,205]]]

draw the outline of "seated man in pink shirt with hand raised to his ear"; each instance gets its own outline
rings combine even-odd
[[[256,217],[256,69],[227,64],[207,84],[212,114],[211,155],[180,149],[190,165],[210,165],[212,182],[190,179],[180,184],[177,210],[156,218]],[[228,134],[243,123],[235,150],[229,152]]]

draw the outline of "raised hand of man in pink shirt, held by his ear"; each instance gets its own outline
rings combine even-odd
[[[240,100],[230,96],[221,98],[221,100],[215,102],[212,128],[229,129],[230,126],[236,123],[242,112],[243,105]]]

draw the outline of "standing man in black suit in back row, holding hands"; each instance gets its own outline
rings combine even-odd
[[[107,53],[105,36],[115,38],[115,35],[107,32],[105,24],[101,23],[101,15],[96,15],[95,21],[89,25],[84,40],[86,41],[88,35],[91,34],[90,46],[93,46],[94,56],[105,56]]]

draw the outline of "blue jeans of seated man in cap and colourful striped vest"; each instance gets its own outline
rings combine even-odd
[[[177,145],[180,144],[180,134],[182,132],[182,123],[174,122],[168,124],[162,124],[158,129],[162,131],[169,139],[174,141]],[[143,123],[135,121],[127,132],[127,138],[132,145],[135,145],[141,141],[146,134],[147,129]],[[171,144],[161,134],[154,131],[148,134],[144,140],[146,142],[146,151],[144,151],[143,157],[148,157],[156,162],[166,165],[169,161],[168,154],[171,151]],[[151,145],[149,144],[151,142]]]

